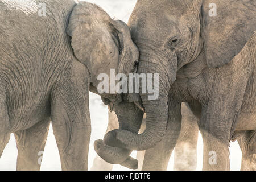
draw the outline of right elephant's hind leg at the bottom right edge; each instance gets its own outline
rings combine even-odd
[[[242,150],[242,171],[256,170],[256,130],[244,131],[238,139]]]

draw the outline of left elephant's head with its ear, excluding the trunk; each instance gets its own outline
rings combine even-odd
[[[136,71],[139,51],[131,40],[130,28],[121,20],[110,18],[97,5],[79,2],[69,17],[67,33],[76,58],[89,69],[91,87],[98,87],[100,74],[110,78],[110,69],[115,75]],[[113,92],[112,98],[117,90]]]

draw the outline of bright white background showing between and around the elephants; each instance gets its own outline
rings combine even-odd
[[[110,16],[114,16],[117,19],[121,19],[127,23],[131,11],[135,6],[135,0],[88,0],[88,2],[96,3],[101,6]],[[96,156],[96,152],[93,148],[93,142],[96,139],[102,139],[104,137],[106,127],[108,125],[108,108],[102,104],[100,96],[90,93],[90,118],[92,123],[92,135],[90,138],[89,147],[89,160],[88,169],[92,167],[93,159]],[[16,149],[16,143],[14,135],[11,135],[11,139],[7,144],[3,154],[0,158],[0,170],[16,170],[16,158],[18,151]],[[135,158],[135,152],[132,156]],[[242,153],[237,142],[231,142],[230,144],[230,169],[240,170]],[[203,164],[203,140],[199,135],[199,141],[197,143],[197,170],[202,169]],[[168,170],[173,169],[174,154],[172,154]],[[54,135],[52,133],[52,127],[49,130],[46,148],[44,150],[41,170],[61,170],[59,151],[55,142]],[[125,167],[114,165],[113,170],[129,170]]]

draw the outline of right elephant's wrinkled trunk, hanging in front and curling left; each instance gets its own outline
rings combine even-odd
[[[146,73],[147,78],[151,74],[150,77],[154,77],[154,79],[151,82],[148,82],[147,79],[147,89],[148,85],[152,84],[155,92],[158,91],[156,94],[158,97],[154,98],[149,90],[143,93],[143,83],[140,84],[140,96],[146,112],[146,129],[142,134],[134,133],[131,130],[113,130],[104,137],[104,142],[110,146],[126,148],[127,150],[147,150],[163,139],[168,120],[168,92],[176,78],[177,57],[172,52],[159,51],[158,55],[148,54],[152,50],[140,50],[140,52],[137,73],[139,75]]]

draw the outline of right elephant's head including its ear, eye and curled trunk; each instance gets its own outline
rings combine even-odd
[[[254,34],[255,12],[255,3],[246,0],[138,0],[129,20],[140,52],[138,73],[159,73],[159,97],[140,94],[147,115],[144,133],[110,131],[105,135],[109,145],[146,150],[162,140],[176,73],[199,59],[205,68],[232,61]]]

